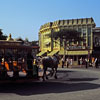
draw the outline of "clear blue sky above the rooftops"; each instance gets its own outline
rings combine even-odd
[[[37,41],[45,23],[90,17],[100,27],[100,0],[0,0],[0,29],[12,38]]]

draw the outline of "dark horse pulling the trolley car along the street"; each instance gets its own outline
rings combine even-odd
[[[48,79],[47,75],[46,75],[46,71],[48,70],[48,68],[51,68],[50,74],[51,76],[54,75],[55,79],[57,79],[57,68],[58,68],[58,57],[57,56],[46,56],[42,58],[42,65],[43,65],[43,81],[45,81],[45,78]]]

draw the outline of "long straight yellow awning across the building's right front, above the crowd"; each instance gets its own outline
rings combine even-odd
[[[88,55],[89,52],[87,50],[83,50],[83,51],[66,51],[65,53],[66,55]],[[91,52],[90,52],[91,54]],[[59,55],[64,55],[64,51],[60,51]]]

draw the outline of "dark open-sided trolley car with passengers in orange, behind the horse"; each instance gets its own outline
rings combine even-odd
[[[38,69],[28,61],[32,47],[21,41],[0,41],[0,80],[38,78]],[[29,67],[28,67],[29,66]],[[34,68],[34,69],[33,69]]]

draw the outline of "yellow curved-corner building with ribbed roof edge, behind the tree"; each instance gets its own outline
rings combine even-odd
[[[81,33],[80,35],[84,38],[84,41],[78,43],[77,45],[69,43],[66,47],[66,51],[64,51],[63,43],[60,44],[59,40],[54,41],[53,38],[51,38],[55,31],[59,31],[64,28],[75,29],[79,31]],[[93,43],[95,40],[94,36],[99,34],[96,32],[96,30],[96,24],[93,18],[58,20],[46,23],[42,25],[39,30],[40,53],[38,56],[44,54],[52,56],[55,53],[63,56],[65,52],[66,57],[73,59],[74,64],[78,64],[78,60],[80,58],[85,59],[93,54]]]

